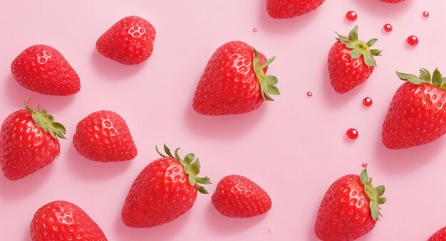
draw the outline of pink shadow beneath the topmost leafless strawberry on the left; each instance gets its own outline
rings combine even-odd
[[[90,57],[90,62],[94,67],[93,69],[97,70],[100,75],[104,75],[104,77],[109,80],[128,79],[128,77],[140,72],[149,61],[150,60],[147,60],[146,63],[140,65],[123,65],[115,60],[110,60],[103,55],[100,55],[95,48],[91,52]]]

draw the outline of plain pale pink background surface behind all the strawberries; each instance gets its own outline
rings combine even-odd
[[[385,184],[388,203],[362,240],[426,240],[446,225],[445,138],[400,151],[385,149],[380,140],[390,100],[403,83],[395,70],[416,74],[421,67],[439,67],[446,73],[443,1],[327,0],[313,13],[289,20],[269,18],[264,0],[173,2],[0,2],[0,118],[31,96],[33,107],[40,103],[68,132],[61,156],[50,166],[20,181],[0,175],[1,240],[29,240],[33,213],[52,200],[81,206],[109,240],[316,240],[313,225],[326,188],[359,173],[363,161],[375,185]],[[349,10],[358,13],[356,23],[345,21]],[[128,15],[146,18],[157,31],[152,57],[138,66],[120,65],[95,50],[97,38]],[[393,32],[383,32],[385,23]],[[339,95],[330,85],[326,58],[334,32],[348,34],[355,24],[361,39],[379,39],[375,47],[383,56],[365,84]],[[420,38],[415,48],[405,43],[411,34]],[[196,114],[192,97],[207,60],[233,40],[276,56],[269,74],[279,77],[281,95],[249,114]],[[61,51],[81,77],[81,92],[44,96],[15,82],[11,61],[36,43]],[[364,97],[373,99],[371,108],[361,105]],[[97,163],[73,148],[76,124],[99,109],[124,117],[138,146],[135,160]],[[349,127],[358,129],[356,141],[346,139]],[[120,210],[128,189],[157,159],[155,144],[163,143],[181,146],[183,155],[197,154],[202,173],[214,182],[210,193],[223,176],[241,174],[269,193],[272,209],[256,218],[230,219],[214,210],[210,195],[200,195],[192,210],[171,223],[125,227]]]

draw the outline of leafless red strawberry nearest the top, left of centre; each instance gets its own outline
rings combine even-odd
[[[96,49],[124,65],[138,65],[152,55],[155,34],[155,28],[145,19],[127,16],[100,36]]]

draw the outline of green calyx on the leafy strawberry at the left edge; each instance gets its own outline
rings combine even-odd
[[[57,139],[58,137],[62,139],[66,139],[66,129],[63,127],[61,123],[54,122],[54,117],[51,114],[46,112],[46,109],[41,110],[40,105],[37,106],[37,109],[31,109],[28,107],[28,100],[30,97],[25,99],[25,107],[28,112],[31,113],[31,117],[33,121],[41,127],[44,132],[48,132],[53,138]]]

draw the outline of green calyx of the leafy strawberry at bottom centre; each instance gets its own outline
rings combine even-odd
[[[187,154],[184,159],[181,159],[180,156],[178,156],[178,150],[180,150],[180,147],[175,149],[175,153],[174,153],[175,156],[172,155],[172,152],[166,146],[166,144],[164,144],[164,151],[167,154],[167,156],[165,154],[160,153],[160,151],[158,151],[157,146],[155,146],[155,149],[157,150],[157,153],[160,154],[160,156],[162,156],[162,157],[170,157],[173,159],[177,159],[177,161],[180,162],[180,164],[183,166],[183,168],[185,168],[185,173],[189,177],[190,185],[191,186],[197,185],[197,190],[200,193],[209,194],[207,192],[207,190],[204,189],[203,186],[199,185],[199,184],[212,184],[212,183],[207,176],[205,176],[204,178],[199,178],[197,176],[199,174],[200,165],[199,165],[199,159],[197,158],[195,160],[195,154],[193,154],[193,153]]]

